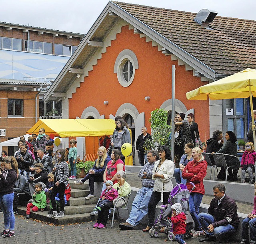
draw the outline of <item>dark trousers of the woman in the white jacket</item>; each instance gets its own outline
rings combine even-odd
[[[169,195],[170,195],[170,191],[164,191],[163,204],[168,203]],[[161,200],[161,192],[153,191],[148,202],[148,227],[152,227],[154,225],[156,205],[160,200]]]

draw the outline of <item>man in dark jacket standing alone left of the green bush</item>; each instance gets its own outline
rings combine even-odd
[[[147,128],[144,126],[141,128],[141,135],[138,136],[138,139],[136,141],[136,150],[138,152],[138,157],[139,157],[139,162],[140,166],[144,166],[148,162],[147,160],[147,155],[145,153],[145,147],[144,147],[144,142],[146,139],[152,140],[151,135],[147,132]],[[145,163],[144,163],[145,161]]]

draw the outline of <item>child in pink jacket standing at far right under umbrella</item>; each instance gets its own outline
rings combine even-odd
[[[250,184],[254,183],[253,180],[253,171],[256,160],[256,152],[254,151],[254,145],[252,142],[246,142],[245,144],[245,151],[242,155],[241,159],[241,169],[242,169],[242,176],[241,176],[241,182],[245,183],[245,172],[248,172],[250,177]]]

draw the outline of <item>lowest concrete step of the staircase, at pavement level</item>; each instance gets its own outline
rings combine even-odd
[[[65,207],[66,208],[66,207]],[[26,216],[26,207],[19,207],[18,208],[18,214]],[[35,218],[41,221],[50,222],[53,224],[72,224],[72,223],[80,223],[80,222],[88,222],[88,221],[94,221],[96,220],[95,216],[90,216],[88,213],[82,213],[82,214],[70,214],[65,215],[62,218],[48,218],[47,212],[35,212],[30,213],[30,218]],[[93,222],[94,224],[94,222]],[[92,225],[93,225],[92,224]]]

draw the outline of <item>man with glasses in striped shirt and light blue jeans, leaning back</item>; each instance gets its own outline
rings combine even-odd
[[[152,170],[154,164],[158,160],[158,152],[155,150],[148,151],[148,163],[140,170],[138,177],[142,179],[142,188],[137,192],[132,203],[132,210],[126,222],[119,224],[122,230],[131,230],[134,226],[140,223],[140,220],[148,213],[148,201],[151,197],[154,180],[152,179]]]

